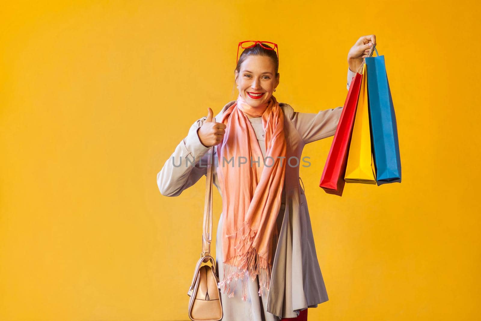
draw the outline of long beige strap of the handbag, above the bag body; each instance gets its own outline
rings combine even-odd
[[[201,257],[210,256],[210,244],[212,241],[212,184],[213,184],[213,167],[214,146],[209,148],[207,155],[207,173],[205,179],[205,204],[204,204],[204,220],[202,233],[202,253]]]

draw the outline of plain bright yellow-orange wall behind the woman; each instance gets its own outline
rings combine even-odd
[[[476,2],[2,3],[0,320],[188,320],[205,180],[169,198],[155,177],[207,107],[235,98],[237,43],[278,43],[278,101],[316,113],[344,103],[347,53],[369,34],[403,181],[327,194],[332,138],[306,146],[329,295],[309,320],[479,318]]]

